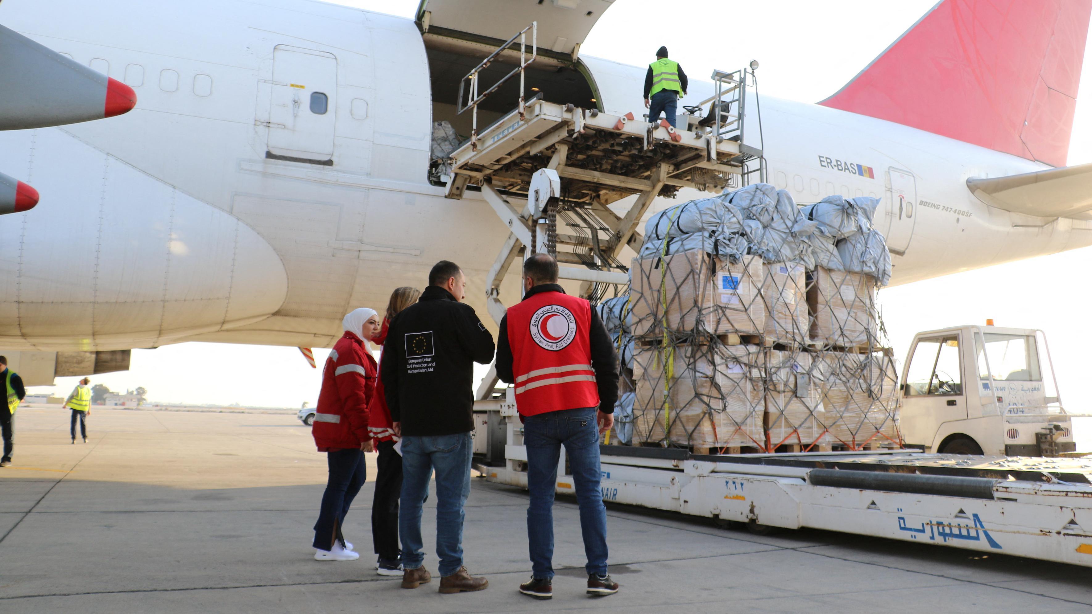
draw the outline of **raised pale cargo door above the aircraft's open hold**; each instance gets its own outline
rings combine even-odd
[[[614,0],[422,0],[417,26],[426,40],[447,38],[496,48],[538,22],[538,55],[572,62]],[[530,44],[530,40],[529,40]]]

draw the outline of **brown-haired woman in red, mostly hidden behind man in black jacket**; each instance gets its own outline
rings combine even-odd
[[[420,297],[420,290],[403,286],[391,293],[387,303],[387,314],[383,326],[371,338],[372,341],[384,345],[391,321],[405,308],[412,305]],[[385,350],[384,350],[385,351]],[[383,363],[382,356],[379,363]],[[391,410],[387,408],[383,382],[376,384],[376,394],[368,406],[368,433],[376,441],[376,452],[379,453],[376,471],[376,493],[371,499],[371,541],[379,559],[376,562],[376,573],[380,576],[401,576],[402,551],[399,549],[399,497],[402,496],[402,454],[395,448],[401,437],[394,434],[391,423]]]

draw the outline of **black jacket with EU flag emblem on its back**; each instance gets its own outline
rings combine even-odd
[[[439,286],[390,323],[380,376],[391,420],[402,434],[436,436],[474,430],[474,363],[492,360],[492,335],[474,308]]]

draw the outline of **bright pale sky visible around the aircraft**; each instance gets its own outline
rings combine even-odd
[[[335,3],[405,17],[417,7],[417,0]],[[642,65],[665,45],[695,80],[704,80],[714,68],[735,70],[756,59],[761,95],[816,103],[838,91],[934,3],[768,0],[726,8],[723,0],[617,0],[581,53]],[[1088,49],[1081,81],[1069,165],[1092,161]],[[1083,386],[1087,348],[1092,347],[1092,333],[1084,327],[1092,299],[1085,273],[1090,265],[1092,248],[883,290],[883,317],[895,356],[905,354],[915,332],[985,324],[987,317],[999,326],[1042,328],[1066,408],[1092,413],[1092,390]],[[360,306],[381,311],[384,305]],[[328,352],[314,350],[320,366]],[[67,394],[75,380],[58,378],[57,394]],[[181,344],[133,350],[131,371],[94,380],[111,389],[144,386],[159,401],[299,407],[314,404],[321,371],[310,369],[296,348]]]

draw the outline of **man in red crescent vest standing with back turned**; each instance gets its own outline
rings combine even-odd
[[[587,555],[587,593],[618,592],[607,575],[607,516],[600,492],[600,434],[614,424],[618,356],[598,314],[557,284],[557,261],[523,263],[523,301],[508,310],[497,339],[497,376],[515,384],[527,453],[527,541],[531,580],[520,592],[550,599],[554,487],[565,446],[580,505]]]

